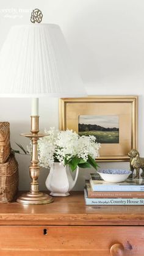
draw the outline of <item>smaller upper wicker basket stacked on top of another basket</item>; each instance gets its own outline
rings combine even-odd
[[[10,124],[0,122],[0,163],[5,163],[10,155]]]

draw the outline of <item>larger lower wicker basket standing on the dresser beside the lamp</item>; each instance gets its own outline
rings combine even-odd
[[[0,164],[0,203],[13,200],[18,191],[18,163],[13,154],[7,163]]]

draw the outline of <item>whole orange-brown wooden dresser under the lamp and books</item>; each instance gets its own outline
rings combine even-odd
[[[143,256],[144,207],[86,207],[83,192],[49,205],[0,204],[0,255]]]

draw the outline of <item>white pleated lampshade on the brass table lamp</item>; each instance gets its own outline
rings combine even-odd
[[[81,97],[86,92],[60,27],[13,26],[0,52],[0,97]]]

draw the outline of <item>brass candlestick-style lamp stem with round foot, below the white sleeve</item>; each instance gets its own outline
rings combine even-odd
[[[38,176],[40,174],[40,166],[38,166],[38,153],[37,153],[37,141],[40,137],[44,137],[45,134],[39,132],[39,116],[31,116],[31,133],[24,133],[21,136],[28,137],[32,141],[32,158],[31,165],[29,167],[31,181],[31,189],[29,192],[22,194],[16,200],[18,203],[26,205],[41,205],[45,203],[51,203],[53,201],[51,196],[40,192],[38,189]]]

